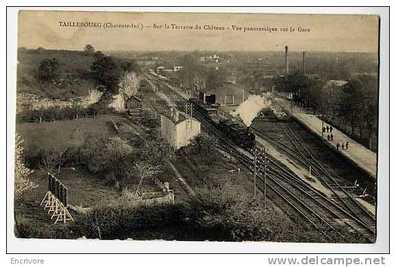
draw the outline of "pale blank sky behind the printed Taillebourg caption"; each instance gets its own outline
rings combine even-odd
[[[105,28],[109,23],[129,28]],[[172,29],[172,24],[193,29]],[[197,25],[201,29],[195,29]],[[203,29],[204,25],[224,30]],[[277,31],[244,31],[245,27]],[[309,31],[298,31],[299,27]],[[82,50],[92,44],[101,51],[283,51],[288,45],[289,51],[377,53],[378,27],[378,17],[369,15],[24,10],[18,15],[18,47]]]

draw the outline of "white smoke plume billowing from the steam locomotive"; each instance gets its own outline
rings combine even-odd
[[[250,126],[251,122],[258,115],[258,113],[264,108],[271,108],[273,110],[273,103],[267,94],[263,96],[253,94],[249,96],[243,103],[241,103],[234,112],[231,112],[232,116],[240,116],[243,123],[246,126]]]

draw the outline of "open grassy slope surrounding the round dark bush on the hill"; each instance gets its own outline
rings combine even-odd
[[[60,63],[59,79],[62,79],[60,83],[42,85],[36,79],[40,62],[47,58],[56,58]],[[86,96],[88,89],[95,87],[95,80],[90,75],[93,61],[92,55],[84,55],[81,51],[19,49],[17,92],[27,92],[52,99]]]

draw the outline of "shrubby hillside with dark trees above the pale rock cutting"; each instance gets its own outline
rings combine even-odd
[[[18,49],[16,88],[18,93],[49,99],[84,97],[95,88],[116,93],[125,71],[138,68],[131,60],[100,51]]]

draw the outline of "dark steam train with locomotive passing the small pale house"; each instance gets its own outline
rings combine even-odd
[[[218,105],[203,103],[195,98],[188,99],[188,101],[193,105],[196,112],[206,118],[225,136],[231,138],[238,146],[251,149],[256,144],[256,136],[251,132],[250,127],[236,123],[229,118],[221,117]]]

